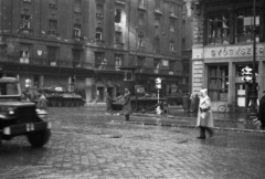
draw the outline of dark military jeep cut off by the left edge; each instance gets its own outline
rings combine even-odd
[[[33,147],[49,141],[51,123],[46,112],[34,103],[23,102],[20,83],[14,77],[0,77],[0,144],[25,135]]]

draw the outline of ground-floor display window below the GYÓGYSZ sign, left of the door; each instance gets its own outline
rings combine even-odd
[[[209,96],[212,101],[227,101],[229,65],[209,66]]]

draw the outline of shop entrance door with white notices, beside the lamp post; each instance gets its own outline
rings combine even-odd
[[[246,112],[247,109],[247,85],[244,83],[236,84],[235,86],[235,103],[240,112]]]

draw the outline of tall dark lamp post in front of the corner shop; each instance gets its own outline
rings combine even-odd
[[[257,84],[256,84],[256,0],[253,0],[253,70],[252,70],[252,86],[251,86],[251,109],[250,118],[257,117]]]

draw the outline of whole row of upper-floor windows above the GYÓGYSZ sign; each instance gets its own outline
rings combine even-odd
[[[239,8],[232,11],[222,10],[206,13],[206,43],[208,44],[231,44],[253,42],[253,27],[255,20],[256,42],[263,38],[261,31],[265,19],[261,14],[262,9],[256,8],[254,18],[253,8]]]

